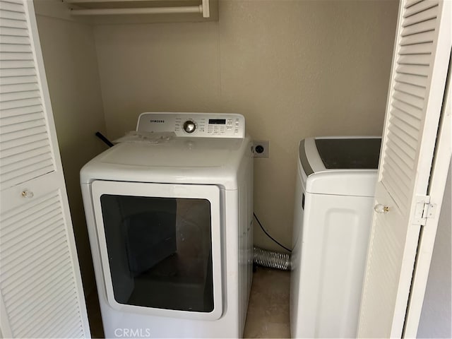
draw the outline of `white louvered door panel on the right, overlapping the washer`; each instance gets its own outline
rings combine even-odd
[[[361,338],[403,335],[450,54],[451,1],[400,1]]]

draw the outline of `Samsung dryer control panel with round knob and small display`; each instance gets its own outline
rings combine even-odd
[[[196,138],[244,138],[245,118],[233,113],[145,112],[138,117],[136,130]]]

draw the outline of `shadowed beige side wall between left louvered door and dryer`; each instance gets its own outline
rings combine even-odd
[[[105,131],[93,28],[44,16],[35,1],[44,66],[63,163],[71,218],[85,293],[94,287],[93,263],[83,213],[79,171],[105,149],[96,131]],[[45,11],[44,13],[48,13]],[[58,13],[58,12],[56,12]]]

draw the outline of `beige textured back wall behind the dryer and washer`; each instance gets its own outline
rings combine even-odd
[[[270,141],[254,210],[290,246],[299,140],[381,134],[397,11],[396,0],[220,0],[219,22],[95,26],[107,133],[145,111],[244,114]]]

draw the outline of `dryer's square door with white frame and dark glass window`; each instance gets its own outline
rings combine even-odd
[[[95,181],[93,198],[112,307],[221,316],[217,186]]]

